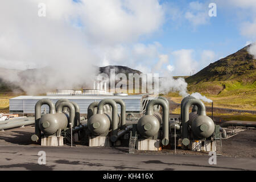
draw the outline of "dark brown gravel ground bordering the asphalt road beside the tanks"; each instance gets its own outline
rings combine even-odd
[[[34,127],[26,126],[6,131],[0,131],[0,146],[39,146],[31,141]],[[83,147],[78,145],[77,147]],[[126,147],[125,147],[126,148]],[[127,148],[128,151],[128,148]],[[222,156],[232,158],[255,158],[256,156],[256,130],[247,129],[236,136],[222,139]],[[163,149],[162,151],[136,151],[135,154],[148,155],[170,155],[174,150]],[[179,155],[208,155],[208,153],[181,150],[177,148]]]

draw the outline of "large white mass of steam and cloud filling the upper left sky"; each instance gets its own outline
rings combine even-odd
[[[45,17],[38,16],[39,3],[46,4]],[[0,68],[40,69],[0,78],[28,94],[91,84],[105,50],[151,34],[163,20],[158,0],[1,1]],[[112,57],[123,58],[115,52]]]

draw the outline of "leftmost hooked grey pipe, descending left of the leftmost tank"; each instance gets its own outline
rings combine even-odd
[[[49,106],[49,113],[50,114],[55,114],[56,113],[55,105],[48,98],[44,98],[44,99],[36,102],[36,105],[35,105],[35,134],[32,135],[32,137],[31,137],[31,139],[33,141],[37,141],[41,138],[41,131],[39,129],[39,121],[40,121],[40,118],[41,118],[41,107],[44,104]]]

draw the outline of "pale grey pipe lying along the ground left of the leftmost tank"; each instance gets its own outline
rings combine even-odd
[[[0,130],[14,129],[15,127],[33,125],[34,123],[35,123],[34,117],[11,119],[9,123],[7,123],[5,125],[0,125]]]

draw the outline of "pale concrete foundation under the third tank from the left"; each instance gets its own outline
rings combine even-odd
[[[138,150],[160,151],[161,142],[159,139],[138,139]]]

